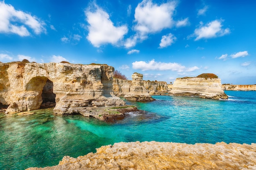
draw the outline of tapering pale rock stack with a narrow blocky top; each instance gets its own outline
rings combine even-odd
[[[153,99],[143,84],[143,75],[139,73],[132,74],[132,83],[130,92],[124,95],[124,98],[132,101],[153,101]]]

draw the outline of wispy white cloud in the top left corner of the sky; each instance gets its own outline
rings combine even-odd
[[[14,33],[21,37],[29,36],[27,27],[32,29],[34,33],[40,34],[46,32],[45,22],[32,16],[29,13],[18,11],[10,4],[0,2],[0,33]]]

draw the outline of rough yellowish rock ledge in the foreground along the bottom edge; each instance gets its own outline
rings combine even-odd
[[[256,144],[130,142],[63,157],[57,166],[27,170],[256,170]]]

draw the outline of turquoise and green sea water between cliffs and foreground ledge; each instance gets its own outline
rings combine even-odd
[[[58,164],[102,145],[125,141],[188,144],[256,143],[256,91],[225,91],[228,101],[198,97],[153,96],[154,102],[128,102],[144,113],[106,123],[81,115],[0,114],[0,170]]]

